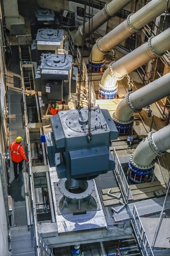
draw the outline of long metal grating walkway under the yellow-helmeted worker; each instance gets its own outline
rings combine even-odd
[[[23,138],[22,145],[25,148],[25,126],[22,113],[22,93],[10,88],[8,90],[9,109],[9,143],[17,136]],[[26,150],[25,150],[26,151]],[[25,172],[25,162],[23,165]],[[34,237],[34,228],[27,226],[26,202],[23,174],[19,174],[18,180],[14,178],[13,163],[10,160],[10,186],[8,194],[13,199],[13,216],[11,226],[10,250],[12,256],[36,256],[37,248]]]

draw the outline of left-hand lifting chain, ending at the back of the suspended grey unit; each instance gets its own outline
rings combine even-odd
[[[84,53],[84,46],[85,46],[85,18],[86,18],[86,7],[87,7],[87,0],[85,0],[85,7],[84,7],[84,17],[83,17],[83,30],[82,30],[82,42],[81,42],[81,56],[80,56],[80,76],[79,76],[79,83],[78,83],[78,101],[77,101],[77,109],[80,109],[80,94],[81,94],[81,81],[83,75],[83,53]]]

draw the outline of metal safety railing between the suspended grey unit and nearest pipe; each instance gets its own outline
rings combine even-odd
[[[129,184],[124,175],[124,170],[123,170],[122,165],[118,159],[118,155],[116,153],[115,148],[113,148],[113,158],[114,158],[114,161],[116,164],[114,173],[115,173],[118,185],[120,187],[124,202],[125,202],[125,204],[128,204],[129,199],[132,200],[133,197],[131,195],[131,190],[130,190]]]

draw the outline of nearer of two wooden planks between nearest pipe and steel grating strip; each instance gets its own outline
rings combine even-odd
[[[165,185],[160,185],[160,186],[156,186],[156,187],[151,187],[151,188],[144,188],[144,189],[135,189],[131,191],[131,195],[141,195],[141,194],[147,194],[149,192],[155,192],[157,190],[161,190],[161,189],[165,189],[166,186]],[[114,195],[119,195],[119,193],[113,193]],[[105,200],[111,200],[112,197],[109,195],[102,195],[103,201]]]

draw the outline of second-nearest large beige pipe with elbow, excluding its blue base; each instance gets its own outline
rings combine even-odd
[[[113,120],[120,123],[131,122],[134,112],[140,112],[142,108],[168,95],[170,95],[170,73],[163,75],[134,93],[128,93],[118,104]]]

